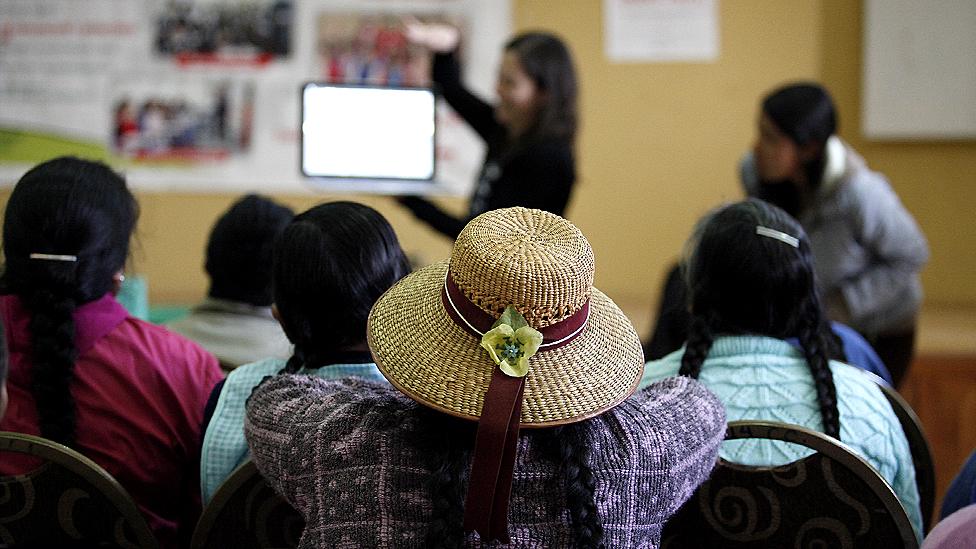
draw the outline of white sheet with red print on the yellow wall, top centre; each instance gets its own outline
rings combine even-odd
[[[603,21],[610,61],[718,59],[718,0],[604,0]]]

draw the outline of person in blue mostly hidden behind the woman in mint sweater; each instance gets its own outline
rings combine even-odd
[[[685,288],[681,265],[676,264],[668,271],[665,279],[654,331],[644,345],[644,358],[648,361],[657,360],[680,349],[688,339],[689,322],[691,314],[688,312],[688,290]],[[894,387],[888,368],[861,334],[840,322],[831,322],[830,331],[834,337],[834,344],[831,345],[832,359],[857,366]],[[800,344],[796,339],[789,341],[794,345]]]

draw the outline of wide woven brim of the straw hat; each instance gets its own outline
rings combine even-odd
[[[445,311],[441,288],[447,269],[447,261],[435,263],[387,290],[369,314],[369,347],[380,372],[401,392],[425,406],[477,420],[495,364],[481,338]],[[643,367],[640,338],[630,320],[593,288],[580,335],[529,359],[522,427],[599,415],[637,389]]]

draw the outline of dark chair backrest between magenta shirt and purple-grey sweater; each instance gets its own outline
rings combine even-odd
[[[305,520],[248,460],[234,470],[203,510],[192,549],[297,547]]]

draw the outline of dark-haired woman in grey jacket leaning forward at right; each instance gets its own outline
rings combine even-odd
[[[762,102],[740,165],[746,194],[796,217],[809,235],[824,307],[871,343],[898,387],[911,365],[925,236],[884,175],[837,135],[823,86],[785,85]]]

